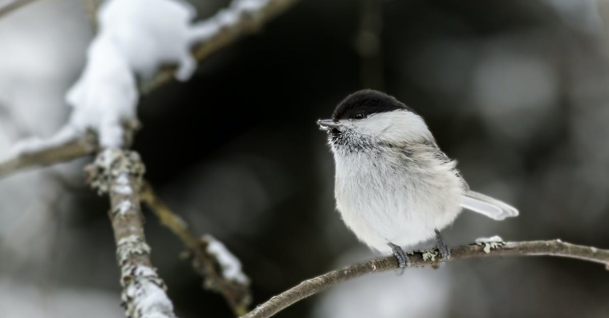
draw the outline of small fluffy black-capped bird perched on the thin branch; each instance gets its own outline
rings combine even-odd
[[[393,252],[401,269],[410,266],[401,247],[434,236],[442,260],[450,258],[439,230],[461,208],[495,220],[518,216],[510,205],[471,191],[423,118],[392,96],[357,91],[340,102],[332,119],[317,124],[327,130],[334,154],[343,221],[372,249]]]

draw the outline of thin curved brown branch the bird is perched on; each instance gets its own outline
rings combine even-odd
[[[408,253],[413,267],[438,266],[440,258],[436,258],[437,251],[415,251]],[[486,258],[491,256],[560,256],[576,258],[604,264],[609,270],[609,250],[596,247],[580,246],[562,242],[559,239],[552,241],[528,242],[487,242],[460,246],[451,249],[449,261],[465,260],[466,258]],[[384,256],[370,261],[363,261],[343,269],[333,270],[320,275],[276,295],[266,303],[262,303],[242,318],[270,317],[284,308],[305,299],[330,286],[340,284],[363,275],[398,269],[395,256]]]

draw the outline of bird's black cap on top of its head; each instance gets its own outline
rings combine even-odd
[[[332,119],[339,121],[340,119],[354,119],[357,113],[361,113],[364,117],[374,113],[384,113],[392,110],[409,110],[410,108],[385,93],[375,90],[361,90],[345,97],[339,105],[336,106]]]

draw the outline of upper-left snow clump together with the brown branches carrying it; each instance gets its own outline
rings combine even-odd
[[[136,107],[140,91],[148,93],[174,77],[188,80],[197,60],[241,35],[258,30],[296,2],[233,0],[227,9],[197,23],[193,22],[194,8],[183,1],[105,2],[97,12],[99,32],[88,48],[85,68],[66,93],[66,103],[72,107],[68,122],[49,140],[40,140],[35,145],[26,142],[27,154],[18,151],[24,147],[23,143],[17,143],[7,158],[0,160],[0,177],[18,169],[90,154],[94,147],[76,150],[71,147],[87,131],[96,134],[95,147],[130,144],[139,127]],[[164,65],[177,68],[161,69]],[[138,77],[144,79],[139,90]],[[63,155],[66,152],[69,156]]]

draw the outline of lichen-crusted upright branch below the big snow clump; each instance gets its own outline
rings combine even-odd
[[[138,190],[144,164],[136,152],[106,149],[85,168],[87,181],[98,193],[110,196],[110,221],[121,267],[122,306],[130,318],[175,318],[166,286],[150,263],[144,236],[144,217]]]

